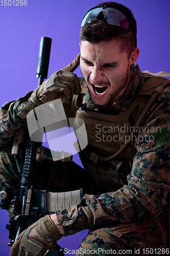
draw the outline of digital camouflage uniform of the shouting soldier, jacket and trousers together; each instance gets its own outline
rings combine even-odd
[[[124,95],[116,104],[119,104],[120,108],[127,109],[135,93],[150,77],[148,74],[142,74],[135,64],[132,79]],[[12,136],[19,127],[26,124],[26,114],[34,108],[30,95],[31,93],[28,93],[18,101],[2,106],[4,113],[2,112],[1,121],[1,145],[11,143]],[[90,230],[80,245],[79,249],[82,251],[78,251],[78,255],[81,255],[81,252],[84,255],[100,255],[100,251],[94,250],[98,248],[105,249],[101,251],[101,255],[108,255],[107,250],[110,250],[110,254],[116,250],[121,255],[120,251],[118,252],[119,249],[127,250],[122,255],[135,255],[137,249],[140,249],[140,255],[144,255],[146,254],[142,250],[144,248],[166,247],[164,209],[170,181],[169,95],[169,86],[167,86],[144,117],[143,123],[148,129],[138,134],[140,137],[135,143],[137,153],[134,157],[132,172],[128,176],[128,185],[99,196],[85,195],[78,206],[73,205],[56,212],[65,236],[84,229]],[[94,108],[88,90],[86,105],[89,110]],[[161,133],[155,132],[155,140],[151,140],[153,127],[158,126],[161,127]],[[7,183],[8,180],[13,182],[14,174],[17,180],[18,173],[14,173],[13,165],[10,165],[10,174],[6,170],[7,163],[4,166],[3,173],[5,172]],[[5,182],[4,177],[1,179],[1,183]],[[85,249],[93,251],[85,252]],[[132,253],[128,251],[129,249]],[[156,250],[152,255],[155,254],[157,254]]]

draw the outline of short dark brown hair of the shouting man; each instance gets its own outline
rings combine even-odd
[[[129,26],[128,29],[124,29],[96,18],[91,20],[90,23],[85,23],[81,28],[80,41],[89,41],[93,43],[116,39],[122,41],[120,52],[127,52],[128,56],[130,56],[135,47],[135,37],[137,34],[136,20],[132,11],[128,7],[116,2],[105,2],[100,5],[107,5],[125,13],[130,19],[133,31],[131,26]]]

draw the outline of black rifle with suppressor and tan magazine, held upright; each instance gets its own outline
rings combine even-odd
[[[39,47],[39,57],[37,65],[37,78],[39,78],[38,86],[40,86],[47,78],[48,63],[50,59],[52,39],[48,37],[41,37]],[[38,141],[42,141],[41,138]],[[70,203],[79,203],[82,198],[82,191],[70,191],[66,193],[51,193],[45,190],[37,190],[34,188],[34,180],[36,177],[36,169],[38,162],[36,161],[37,148],[41,147],[42,142],[35,142],[30,139],[28,127],[22,128],[14,138],[12,154],[17,158],[21,158],[21,180],[18,184],[18,190],[14,191],[10,187],[5,187],[1,191],[0,207],[7,209],[14,213],[14,216],[10,219],[6,228],[9,230],[9,239],[11,242],[8,246],[12,246],[19,234],[36,222],[46,214],[55,213],[56,210],[61,209],[59,201],[63,201],[63,197],[69,197]],[[65,158],[66,161],[72,160],[70,154],[63,154],[62,152],[56,153],[59,159]],[[61,157],[64,156],[64,157]],[[51,158],[50,151],[43,152],[43,158]],[[81,195],[80,195],[81,193]],[[69,195],[68,195],[69,194]],[[52,198],[56,198],[56,204],[51,203]],[[62,198],[62,200],[59,200]],[[66,208],[62,205],[62,208]],[[58,256],[64,255],[64,248],[61,248],[58,244],[51,249],[46,255]]]

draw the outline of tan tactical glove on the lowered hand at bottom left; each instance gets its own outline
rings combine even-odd
[[[24,230],[15,240],[10,256],[43,256],[62,238],[49,215]],[[30,254],[29,254],[30,253]]]

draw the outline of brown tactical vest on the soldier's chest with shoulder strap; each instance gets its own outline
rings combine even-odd
[[[116,191],[124,184],[128,184],[127,176],[131,172],[136,154],[137,137],[135,133],[131,134],[132,129],[143,114],[143,110],[148,112],[145,106],[155,89],[160,93],[163,90],[160,86],[165,81],[169,80],[162,77],[150,78],[126,110],[114,109],[105,113],[99,109],[77,111],[77,120],[84,120],[88,138],[88,146],[80,153],[80,159],[93,182],[104,191]],[[86,93],[85,88],[86,83],[83,82],[83,96]],[[139,133],[142,129],[141,122],[137,129]],[[125,144],[128,144],[125,150],[112,159],[110,156],[121,151]]]

